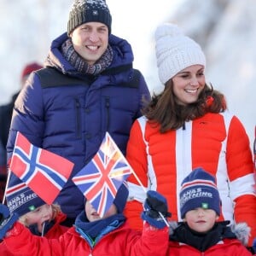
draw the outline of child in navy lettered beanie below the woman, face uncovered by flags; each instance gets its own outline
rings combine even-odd
[[[190,172],[183,179],[179,195],[183,222],[171,224],[167,255],[252,255],[245,247],[249,236],[247,224],[236,224],[231,229],[229,221],[218,222],[221,201],[210,173],[202,168]]]

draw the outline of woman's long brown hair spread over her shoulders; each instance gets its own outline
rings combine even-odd
[[[186,106],[177,104],[173,93],[173,82],[166,82],[165,90],[153,95],[143,108],[143,114],[152,125],[160,125],[160,132],[177,130],[185,121],[193,120],[206,113],[220,113],[227,108],[224,95],[213,90],[212,84],[205,84],[198,100]]]

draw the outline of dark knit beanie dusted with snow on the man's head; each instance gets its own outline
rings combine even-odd
[[[108,26],[108,34],[111,33],[112,17],[104,0],[75,0],[69,12],[67,34],[87,22],[101,22]]]

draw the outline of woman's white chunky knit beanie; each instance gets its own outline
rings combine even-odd
[[[206,56],[201,46],[186,37],[177,25],[168,23],[158,26],[154,38],[158,73],[162,84],[166,84],[186,67],[206,67]]]

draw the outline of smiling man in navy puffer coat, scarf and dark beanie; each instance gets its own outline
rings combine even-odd
[[[8,159],[20,131],[75,164],[56,199],[67,225],[84,207],[71,178],[96,154],[106,131],[125,154],[131,125],[150,97],[143,75],[132,68],[131,45],[111,34],[111,21],[105,1],[75,0],[67,32],[52,42],[45,68],[32,73],[15,102]]]

